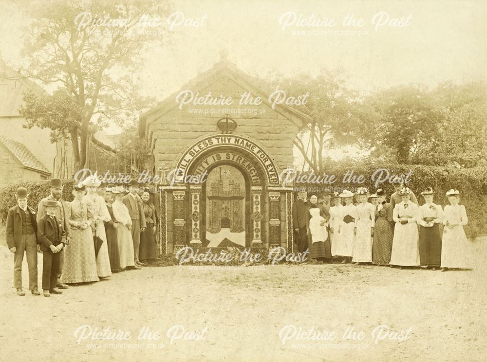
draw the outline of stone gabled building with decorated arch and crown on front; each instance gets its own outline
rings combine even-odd
[[[293,166],[293,141],[309,117],[273,109],[256,84],[222,60],[140,116],[152,171],[165,178],[160,236],[167,253],[184,246],[292,248],[292,188],[281,185],[280,174]],[[187,90],[233,103],[181,104]],[[241,105],[249,94],[262,104]]]

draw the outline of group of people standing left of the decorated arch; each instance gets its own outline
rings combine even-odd
[[[29,192],[19,187],[17,205],[7,214],[6,241],[14,253],[14,288],[22,289],[22,261],[27,254],[29,290],[37,286],[37,252],[43,253],[43,295],[96,282],[114,272],[141,269],[157,258],[158,215],[149,191],[131,180],[123,185],[104,185],[96,175],[74,186],[74,200],[62,199],[60,179],[51,180],[51,194],[37,212],[28,206]]]

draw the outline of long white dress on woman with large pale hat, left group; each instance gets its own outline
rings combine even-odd
[[[112,275],[112,268],[110,267],[108,241],[104,221],[110,221],[112,217],[110,216],[105,200],[100,195],[87,194],[83,197],[83,201],[86,202],[88,209],[93,215],[96,228],[95,235],[103,240],[98,255],[96,255],[96,271],[98,272],[98,277],[106,278]]]

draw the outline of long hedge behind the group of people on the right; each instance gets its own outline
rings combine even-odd
[[[296,183],[296,186],[305,186],[307,188],[330,187],[333,191],[348,189],[355,191],[357,187],[367,187],[371,193],[376,190],[372,181],[372,174],[375,170],[387,169],[390,175],[406,175],[410,170],[412,176],[410,182],[406,185],[412,189],[416,195],[419,204],[424,203],[420,196],[421,191],[431,186],[435,192],[433,202],[440,204],[443,208],[449,204],[445,193],[450,189],[460,191],[460,204],[465,205],[467,209],[468,224],[465,226],[465,232],[468,237],[474,238],[481,235],[487,235],[487,168],[454,168],[446,166],[425,166],[425,165],[405,165],[405,164],[376,164],[376,163],[357,163],[348,167],[339,164],[330,166],[326,169],[327,175],[335,175],[337,181],[333,184],[311,184]],[[343,183],[343,175],[346,171],[353,171],[355,175],[363,175],[363,183]],[[394,192],[392,183],[386,181],[378,185],[387,193],[389,200]]]

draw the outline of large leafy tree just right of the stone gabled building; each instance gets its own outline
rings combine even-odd
[[[370,145],[374,109],[362,102],[363,97],[350,89],[348,82],[339,71],[270,81],[272,88],[285,90],[287,95],[309,94],[307,102],[296,108],[311,120],[303,124],[294,145],[304,159],[303,168],[317,174],[324,172],[325,160],[333,148]]]

